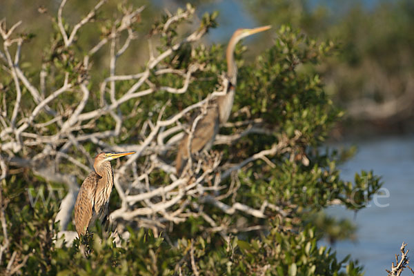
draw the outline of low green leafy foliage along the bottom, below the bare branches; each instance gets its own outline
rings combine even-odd
[[[177,245],[171,246],[154,237],[151,230],[130,228],[128,241],[122,241],[120,246],[113,238],[95,234],[83,244],[77,239],[70,247],[63,244],[57,248],[50,231],[55,228],[51,222],[54,211],[55,208],[44,210],[41,204],[23,208],[23,219],[17,224],[22,230],[19,239],[17,233],[9,232],[13,237],[10,248],[17,252],[15,262],[24,259],[23,275],[175,275],[178,271],[193,275],[196,270],[202,275],[361,275],[362,272],[357,262],[348,262],[348,257],[339,262],[331,249],[318,247],[313,228],[306,227],[300,233],[285,232],[277,222],[268,235],[247,241],[229,237],[212,243],[203,237],[193,237],[177,239]],[[344,270],[335,274],[341,268]]]

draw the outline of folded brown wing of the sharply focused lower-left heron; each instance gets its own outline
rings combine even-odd
[[[98,179],[99,175],[96,172],[90,172],[79,189],[75,203],[75,226],[79,237],[81,234],[86,233],[90,220],[92,219],[94,196]]]

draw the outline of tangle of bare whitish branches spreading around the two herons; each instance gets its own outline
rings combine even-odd
[[[66,2],[63,0],[60,3],[57,25],[63,37],[63,47],[69,48],[77,43],[77,34],[83,26],[93,20],[97,10],[106,1],[97,2],[86,17],[71,30],[71,27],[65,26],[63,18]],[[58,71],[55,73],[48,69],[49,63],[43,64],[39,70],[39,83],[26,77],[29,76],[28,72],[19,65],[24,41],[11,38],[19,23],[8,31],[3,27],[4,24],[1,24],[0,32],[5,41],[0,59],[6,61],[5,72],[10,75],[16,92],[12,103],[8,103],[14,105],[12,112],[9,112],[11,114],[2,112],[0,116],[0,180],[6,178],[8,168],[17,167],[30,169],[44,181],[65,184],[68,193],[65,197],[61,196],[63,199],[55,218],[55,221],[59,221],[61,230],[57,237],[61,237],[63,233],[72,237],[72,233],[65,230],[72,219],[79,184],[92,169],[93,156],[97,153],[90,152],[90,148],[105,151],[135,150],[135,155],[119,160],[117,166],[113,164],[114,186],[119,194],[121,207],[110,214],[110,219],[117,221],[120,227],[124,226],[126,221],[135,221],[137,225],[152,228],[156,233],[161,229],[168,229],[172,224],[186,221],[188,217],[198,216],[206,221],[208,231],[219,232],[223,237],[228,233],[238,233],[237,231],[262,229],[262,226],[253,224],[236,229],[226,219],[217,219],[208,214],[203,210],[204,206],[215,206],[225,218],[236,214],[259,219],[265,219],[270,216],[269,214],[282,215],[282,208],[268,202],[260,208],[248,206],[242,201],[237,202],[236,195],[242,182],[237,178],[236,172],[257,159],[264,160],[265,166],[276,166],[273,156],[283,153],[294,139],[282,137],[278,144],[268,150],[257,152],[239,164],[230,164],[230,161],[223,159],[217,151],[204,151],[197,155],[193,162],[188,162],[188,174],[177,177],[170,157],[175,154],[175,147],[184,135],[180,120],[196,108],[204,111],[193,120],[189,132],[191,143],[197,122],[205,115],[207,106],[215,97],[225,95],[229,82],[224,74],[217,76],[220,82],[217,91],[212,89],[205,99],[186,106],[179,112],[169,113],[168,117],[164,112],[170,112],[171,101],[167,99],[157,103],[157,106],[152,108],[151,115],[142,114],[142,110],[147,108],[142,108],[142,103],[145,104],[155,93],[165,91],[175,94],[174,97],[187,93],[195,81],[195,73],[208,70],[208,66],[197,61],[179,69],[165,62],[182,46],[193,46],[193,43],[199,41],[207,30],[201,26],[188,36],[181,39],[177,37],[172,45],[165,46],[159,52],[153,51],[149,42],[150,55],[146,66],[136,72],[117,75],[117,72],[122,71],[119,57],[130,50],[131,41],[137,38],[133,24],[137,22],[143,9],[144,7],[123,10],[123,14],[114,19],[112,26],[105,28],[106,33],[102,34],[103,37],[96,41],[96,44],[82,49],[80,52],[83,54],[74,54],[77,60],[83,62],[74,65],[75,69],[72,71],[67,72],[67,68],[53,68]],[[157,31],[161,32],[161,35],[166,35],[172,26],[190,19],[194,12],[194,9],[188,6],[184,12],[171,14],[164,26]],[[12,44],[15,45],[10,47]],[[103,47],[104,45],[108,47]],[[15,48],[16,52],[12,52]],[[95,64],[89,61],[98,50],[106,51],[103,55],[108,57],[108,66],[103,70],[95,68]],[[102,73],[97,85],[96,82],[89,83],[89,79],[94,78],[90,74],[91,68]],[[64,74],[65,79],[61,80],[59,77],[57,81],[51,80],[54,74]],[[179,83],[177,87],[165,84],[165,79],[170,76],[175,78],[173,83]],[[26,108],[26,104],[22,103],[24,91],[30,93],[30,108]],[[65,100],[68,96],[70,101]],[[125,110],[126,103],[133,107],[132,110]],[[135,118],[137,119],[134,121]],[[110,121],[110,124],[102,129],[105,121]],[[135,126],[130,127],[131,121]],[[275,130],[267,129],[262,119],[227,123],[223,127],[233,132],[230,135],[217,135],[215,144],[230,145],[250,133],[275,136]],[[136,137],[130,139],[131,134]],[[14,152],[19,152],[19,155],[15,155]],[[224,180],[232,172],[233,178],[228,186],[224,184]],[[165,176],[162,183],[157,182],[160,175]],[[69,240],[68,236],[66,241]],[[6,244],[3,244],[0,247],[0,262],[5,250],[8,249]],[[190,255],[194,261],[195,256],[192,252]],[[197,275],[197,267],[194,264],[193,271]]]

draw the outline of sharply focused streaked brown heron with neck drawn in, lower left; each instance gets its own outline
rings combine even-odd
[[[95,171],[90,172],[83,181],[75,203],[75,226],[79,237],[85,235],[97,219],[101,223],[106,221],[110,192],[114,185],[110,161],[132,153],[135,152],[101,152],[95,157]]]

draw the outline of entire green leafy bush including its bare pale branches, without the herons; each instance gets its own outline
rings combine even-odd
[[[80,39],[83,28],[70,40],[77,29],[58,15],[42,65],[22,74],[19,47],[30,43],[28,37],[3,35],[1,273],[362,275],[357,262],[338,261],[330,248],[317,245],[324,235],[348,235],[316,228],[312,219],[333,204],[360,210],[381,186],[373,172],[343,181],[337,164],[346,154],[321,150],[343,115],[315,70],[333,55],[335,43],[282,26],[274,31],[274,45],[253,63],[244,63],[246,48],[239,44],[230,123],[215,148],[177,179],[168,170],[175,154],[175,144],[168,144],[172,130],[181,130],[226,84],[219,77],[226,69],[224,47],[199,41],[216,26],[217,14],[205,14],[190,32],[190,5],[154,20],[141,19],[139,8],[118,8],[120,19],[93,14],[96,20],[88,23],[100,33],[90,43]],[[122,75],[118,58],[144,30],[155,43],[148,62]],[[99,43],[108,49],[95,55]],[[65,244],[57,235],[66,230],[55,222],[63,209],[58,213],[58,204],[90,170],[83,164],[92,164],[91,155],[118,149],[139,152],[115,169],[110,208],[120,237],[98,230]],[[59,202],[63,193],[52,195],[63,187],[66,197]],[[50,201],[33,201],[40,190]],[[341,225],[352,233],[352,226]]]

